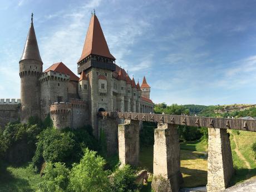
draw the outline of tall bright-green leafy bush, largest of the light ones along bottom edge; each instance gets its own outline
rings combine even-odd
[[[69,189],[73,192],[110,191],[106,161],[96,156],[95,151],[85,149],[85,155],[80,164],[74,164],[71,169]]]

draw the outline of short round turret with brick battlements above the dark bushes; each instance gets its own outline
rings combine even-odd
[[[72,105],[65,102],[55,102],[50,106],[51,119],[56,129],[71,128],[71,108]]]

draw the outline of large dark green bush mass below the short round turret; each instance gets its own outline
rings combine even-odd
[[[85,129],[65,129],[63,131],[48,128],[38,136],[37,149],[33,157],[33,165],[40,170],[44,161],[61,162],[71,166],[79,162],[83,149],[97,149],[96,139]]]

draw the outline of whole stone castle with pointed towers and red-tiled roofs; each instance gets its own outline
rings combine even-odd
[[[98,111],[153,111],[146,78],[139,84],[115,63],[95,13],[92,14],[76,76],[64,63],[43,71],[33,16],[19,61],[21,121],[50,114],[57,129],[76,129],[86,124],[98,134]]]

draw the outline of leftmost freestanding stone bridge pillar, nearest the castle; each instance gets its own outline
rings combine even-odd
[[[125,164],[138,165],[140,125],[136,120],[125,120],[125,124],[118,125],[119,160],[121,166]]]

